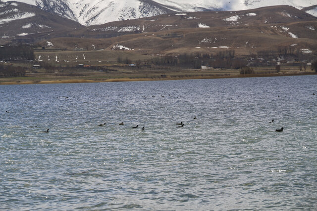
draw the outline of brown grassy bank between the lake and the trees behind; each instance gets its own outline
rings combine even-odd
[[[70,83],[100,83],[100,82],[134,82],[134,81],[167,81],[167,80],[193,80],[193,79],[221,79],[221,78],[249,78],[249,77],[278,77],[317,75],[313,71],[299,72],[294,70],[280,73],[268,70],[256,71],[255,74],[241,75],[237,70],[186,70],[169,72],[119,72],[119,73],[82,73],[71,74],[29,74],[20,78],[0,78],[0,85],[10,84],[70,84]]]

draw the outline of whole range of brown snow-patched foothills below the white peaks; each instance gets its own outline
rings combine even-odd
[[[0,45],[31,43],[52,50],[87,49],[96,55],[104,50],[168,55],[228,49],[247,55],[280,47],[317,52],[317,17],[304,8],[279,5],[239,11],[167,11],[86,27],[34,5],[0,3]]]

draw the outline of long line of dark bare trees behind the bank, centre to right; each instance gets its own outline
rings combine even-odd
[[[219,51],[215,54],[201,54],[201,53],[181,53],[179,55],[164,55],[155,56],[147,61],[134,61],[137,67],[140,66],[174,66],[181,68],[195,68],[199,69],[201,66],[209,66],[212,68],[221,69],[241,69],[243,67],[258,67],[258,66],[270,66],[276,67],[277,61],[286,63],[286,61],[310,61],[316,58],[311,54],[301,53],[301,48],[295,45],[280,46],[277,50],[262,50],[256,54],[250,53],[248,57],[236,57],[234,50]],[[278,60],[279,59],[279,60]],[[132,61],[127,57],[118,57],[119,63],[131,64]],[[295,63],[295,65],[299,65]],[[276,71],[279,72],[279,67],[276,67]],[[305,70],[306,66],[303,63],[300,65],[301,70]],[[244,72],[244,71],[243,71]]]

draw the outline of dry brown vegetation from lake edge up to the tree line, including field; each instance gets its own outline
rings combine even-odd
[[[186,79],[216,79],[240,77],[270,77],[290,75],[313,75],[315,71],[307,68],[301,72],[298,67],[282,66],[279,73],[275,68],[254,68],[255,73],[240,75],[239,70],[195,70],[182,68],[141,68],[117,67],[117,72],[55,72],[28,73],[21,78],[0,78],[0,84],[56,84],[56,83],[96,83],[96,82],[127,82],[127,81],[159,81],[159,80],[186,80]]]

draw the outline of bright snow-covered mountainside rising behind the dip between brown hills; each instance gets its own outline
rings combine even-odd
[[[6,0],[2,0],[6,1]],[[152,0],[18,0],[44,11],[79,22],[95,25],[117,20],[137,19],[172,12]]]

